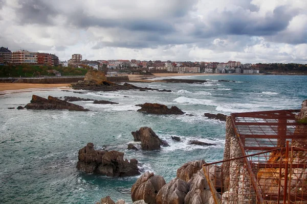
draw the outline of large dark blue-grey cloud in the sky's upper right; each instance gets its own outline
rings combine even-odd
[[[202,23],[197,24],[194,35],[203,38],[214,35],[274,35],[288,27],[295,13],[285,6],[277,7],[272,15],[266,15],[265,18],[251,17],[251,14],[243,9],[235,12],[215,12],[206,19],[209,26],[203,24],[202,27]]]

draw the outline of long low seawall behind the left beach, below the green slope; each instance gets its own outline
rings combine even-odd
[[[31,83],[31,84],[67,84],[83,81],[84,76],[70,77],[43,77],[43,78],[1,78],[0,83]],[[128,76],[107,77],[107,80],[114,83],[129,81]]]

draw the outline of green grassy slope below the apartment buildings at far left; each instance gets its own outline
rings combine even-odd
[[[53,66],[37,66],[37,65],[4,65],[0,66],[0,77],[38,77],[41,75],[54,76],[56,70],[62,76],[85,75],[87,69],[73,67],[53,67]]]

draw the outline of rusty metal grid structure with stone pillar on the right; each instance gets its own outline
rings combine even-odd
[[[307,124],[296,120],[299,111],[231,114],[242,156],[203,165],[215,203],[307,204]]]

